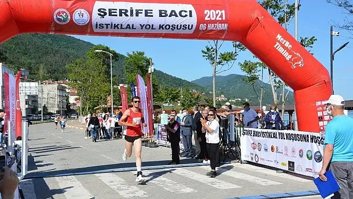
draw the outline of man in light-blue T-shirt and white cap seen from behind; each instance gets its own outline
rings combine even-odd
[[[344,106],[345,100],[340,95],[331,95],[326,103],[326,111],[334,119],[326,126],[319,177],[327,181],[325,173],[331,161],[330,170],[342,188],[332,197],[334,199],[353,199],[353,118],[344,114]]]

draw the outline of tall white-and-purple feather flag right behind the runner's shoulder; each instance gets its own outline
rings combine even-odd
[[[145,86],[144,79],[139,74],[136,74],[136,84],[137,84],[137,95],[141,99],[140,109],[144,114],[145,123],[148,123],[146,86]],[[141,128],[143,129],[144,134],[148,134],[149,129],[147,127],[143,127],[143,123],[141,123]]]

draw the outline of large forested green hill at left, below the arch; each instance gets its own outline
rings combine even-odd
[[[0,51],[7,57],[4,62],[6,66],[15,70],[19,68],[28,70],[31,79],[39,80],[42,75],[44,79],[63,80],[68,78],[66,63],[82,58],[85,52],[93,46],[94,44],[90,42],[67,35],[20,34],[1,44]],[[124,67],[126,58],[119,54],[118,60],[112,64],[113,75],[120,83],[129,83],[126,82]],[[40,72],[39,68],[43,68],[44,71]],[[201,93],[207,90],[195,83],[159,70],[155,70],[153,75],[161,85],[177,88],[189,87]]]

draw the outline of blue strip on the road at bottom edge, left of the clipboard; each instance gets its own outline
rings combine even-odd
[[[294,198],[294,197],[305,197],[305,196],[316,196],[320,195],[318,190],[304,191],[304,192],[291,192],[283,194],[266,194],[257,196],[246,196],[246,197],[235,197],[228,199],[283,199],[283,198]]]

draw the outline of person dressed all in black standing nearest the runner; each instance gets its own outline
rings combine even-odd
[[[172,148],[172,162],[169,165],[178,165],[180,161],[178,147],[180,142],[180,125],[176,122],[176,116],[169,116],[169,123],[165,124],[164,127],[168,135],[167,141],[171,143]]]

